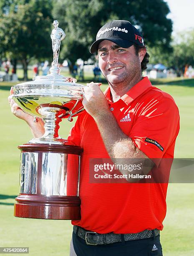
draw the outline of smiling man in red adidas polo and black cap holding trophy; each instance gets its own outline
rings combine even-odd
[[[126,159],[136,159],[138,164],[145,159],[148,171],[153,166],[164,170],[163,160],[174,156],[178,108],[170,95],[142,78],[149,54],[141,33],[130,22],[105,24],[90,51],[97,53],[109,87],[103,93],[97,84],[87,84],[86,111],[78,116],[68,137],[84,150],[81,220],[72,221],[71,256],[161,256],[159,230],[166,215],[167,183],[93,182],[90,161],[115,159],[116,164],[125,164]],[[43,134],[41,122],[33,123],[27,114],[17,112],[13,102],[11,106],[34,136]]]

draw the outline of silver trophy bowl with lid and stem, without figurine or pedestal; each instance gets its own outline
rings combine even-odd
[[[53,74],[51,68],[50,75],[34,77],[33,81],[13,87],[13,100],[20,108],[45,122],[45,134],[29,143],[68,143],[58,136],[59,123],[62,118],[72,121],[73,116],[84,110],[81,103],[84,85],[58,72]]]

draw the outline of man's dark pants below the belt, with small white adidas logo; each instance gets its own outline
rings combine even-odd
[[[160,235],[152,238],[103,245],[88,245],[73,232],[77,256],[162,256]]]

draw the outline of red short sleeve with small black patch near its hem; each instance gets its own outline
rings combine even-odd
[[[170,97],[147,104],[129,134],[136,147],[149,158],[161,159],[179,132],[179,110]]]

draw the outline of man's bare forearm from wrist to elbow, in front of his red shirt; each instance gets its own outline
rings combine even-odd
[[[148,160],[148,157],[139,148],[136,148],[131,138],[123,133],[118,126],[116,119],[111,112],[107,112],[106,115],[99,115],[94,118],[98,129],[101,133],[106,150],[111,159],[114,159],[118,165],[128,164],[142,164],[144,166],[144,160]],[[141,169],[141,174],[148,174],[154,164],[151,160],[146,162],[146,166]],[[128,170],[120,168],[119,171],[122,174],[128,174]],[[133,170],[131,174],[139,173],[138,170]],[[130,182],[137,181],[133,179],[127,179]]]

